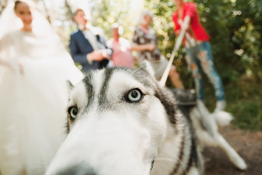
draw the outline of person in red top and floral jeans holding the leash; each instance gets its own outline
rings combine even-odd
[[[215,111],[223,110],[226,106],[222,80],[215,69],[212,51],[210,47],[210,36],[200,24],[199,15],[194,2],[174,0],[177,10],[173,14],[174,30],[178,35],[181,29],[185,29],[187,39],[183,44],[186,47],[186,60],[191,69],[196,86],[197,97],[204,100],[204,72],[215,89],[217,104]],[[197,55],[199,55],[197,57]]]

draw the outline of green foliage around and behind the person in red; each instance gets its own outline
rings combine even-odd
[[[226,92],[226,110],[232,112],[235,116],[234,124],[240,128],[262,129],[262,1],[194,2],[201,24],[211,36],[214,62]],[[163,54],[168,57],[175,43],[171,15],[176,7],[169,0],[147,0],[145,7],[155,14],[153,27],[158,34],[158,44]],[[193,82],[190,72],[186,69],[183,51],[184,48],[177,53],[173,64],[176,65],[185,87],[192,88]],[[243,77],[252,81],[243,84]],[[204,79],[206,104],[213,110],[214,90],[206,76]]]

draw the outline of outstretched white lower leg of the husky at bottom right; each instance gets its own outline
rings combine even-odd
[[[219,147],[222,148],[227,156],[229,157],[229,160],[239,169],[244,170],[247,169],[247,164],[245,161],[238,155],[238,153],[229,145],[229,143],[224,139],[224,137],[217,133],[215,135],[215,139],[217,140]]]

